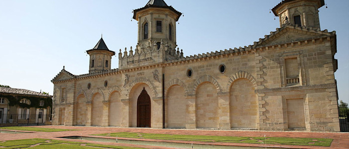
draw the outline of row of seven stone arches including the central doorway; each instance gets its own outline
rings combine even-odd
[[[233,80],[224,95],[208,80],[194,85],[194,95],[190,95],[184,83],[177,82],[180,83],[165,88],[165,128],[218,129],[220,123],[230,123],[230,128],[258,129],[258,98],[250,79]],[[73,125],[162,127],[163,100],[153,96],[152,88],[145,82],[132,87],[129,99],[121,99],[120,88],[108,96],[96,89],[91,101],[81,91],[74,104]],[[64,118],[60,121],[64,123]]]

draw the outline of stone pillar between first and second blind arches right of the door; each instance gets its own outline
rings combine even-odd
[[[195,95],[188,95],[186,97],[186,129],[196,129],[196,108]]]

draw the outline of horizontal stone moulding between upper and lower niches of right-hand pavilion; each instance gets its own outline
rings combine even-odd
[[[294,91],[294,90],[307,90],[307,89],[319,89],[319,88],[330,88],[330,87],[336,87],[336,84],[329,83],[329,84],[317,84],[317,85],[307,85],[307,86],[267,88],[267,89],[257,89],[254,92],[255,93],[265,93],[265,92]]]

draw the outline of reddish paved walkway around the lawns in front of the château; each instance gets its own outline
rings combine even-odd
[[[137,132],[137,133],[155,133],[155,134],[173,134],[173,135],[205,135],[205,136],[234,136],[234,137],[301,137],[301,138],[331,138],[334,139],[331,147],[313,147],[313,146],[290,146],[290,145],[261,145],[261,144],[240,144],[240,143],[198,143],[190,141],[164,141],[173,143],[193,143],[195,144],[214,144],[225,146],[240,146],[240,147],[274,147],[274,148],[286,148],[286,149],[349,149],[349,133],[324,133],[324,132],[271,132],[271,131],[224,131],[224,130],[185,130],[185,129],[152,129],[152,128],[115,128],[115,127],[75,127],[75,126],[30,126],[39,128],[59,128],[59,129],[76,129],[79,131],[67,131],[67,132],[35,132],[25,134],[0,134],[0,141],[18,140],[18,139],[31,139],[31,138],[43,138],[54,140],[65,140],[56,137],[67,136],[88,136],[92,134],[105,134],[105,133],[117,133],[117,132]],[[108,138],[102,137],[101,138]],[[119,138],[121,139],[121,138]],[[128,138],[130,140],[130,138]],[[139,139],[131,139],[139,140]],[[143,141],[156,141],[163,142],[163,140],[149,140],[141,139]],[[107,143],[107,142],[95,142],[86,140],[73,140],[75,142],[84,143],[96,143],[104,145],[115,146],[127,146],[127,147],[143,147],[149,149],[173,149],[165,147],[154,146],[140,146],[120,143]]]

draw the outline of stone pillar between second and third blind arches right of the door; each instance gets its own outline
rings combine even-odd
[[[230,130],[229,92],[220,92],[217,93],[217,96],[219,112],[219,129]]]

